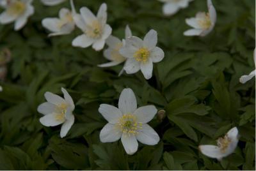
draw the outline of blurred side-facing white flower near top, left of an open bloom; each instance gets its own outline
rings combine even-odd
[[[61,8],[58,18],[46,18],[42,20],[42,25],[51,31],[49,36],[59,36],[63,34],[70,34],[75,29],[75,22],[73,16],[76,15],[73,1],[70,0],[72,11],[67,8]]]

